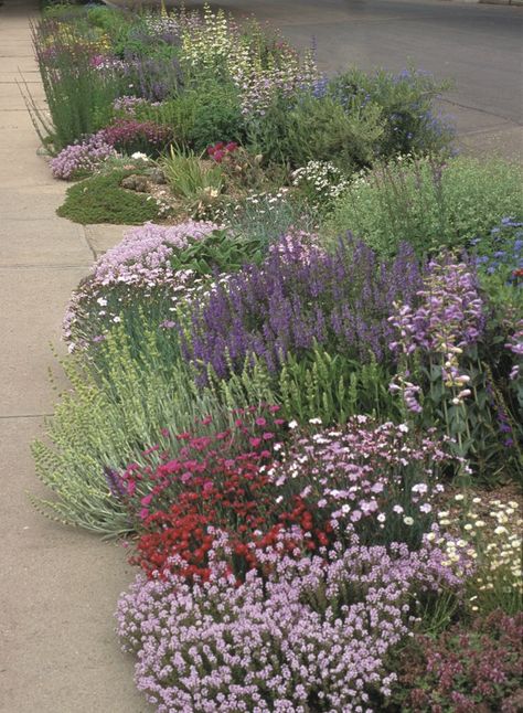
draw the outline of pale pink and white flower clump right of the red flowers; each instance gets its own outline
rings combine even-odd
[[[444,490],[438,467],[453,460],[430,435],[361,415],[339,429],[298,436],[269,475],[286,498],[299,494],[342,540],[354,528],[373,542],[380,531],[388,539],[391,529],[408,541],[415,523],[430,523]]]

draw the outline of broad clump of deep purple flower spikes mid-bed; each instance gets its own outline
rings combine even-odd
[[[333,254],[290,236],[260,266],[245,267],[193,305],[180,324],[184,353],[203,381],[210,369],[231,375],[250,355],[274,373],[288,353],[302,355],[316,344],[387,361],[389,306],[408,301],[420,279],[408,248],[385,264],[351,236]]]

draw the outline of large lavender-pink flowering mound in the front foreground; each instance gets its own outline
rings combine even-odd
[[[380,711],[396,679],[385,659],[412,628],[416,599],[461,578],[430,545],[365,547],[354,538],[330,558],[264,556],[267,577],[227,574],[220,534],[207,582],[139,575],[120,597],[124,648],[160,713]],[[295,535],[290,535],[295,539]]]

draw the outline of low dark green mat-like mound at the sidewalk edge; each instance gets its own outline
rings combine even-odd
[[[132,225],[157,219],[160,209],[154,199],[120,188],[121,179],[130,173],[128,170],[99,173],[72,185],[56,214],[83,225]]]

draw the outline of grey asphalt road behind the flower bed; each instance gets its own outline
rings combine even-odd
[[[117,2],[120,0],[116,0]],[[172,4],[178,4],[172,2]],[[202,2],[186,2],[201,7]],[[523,8],[445,0],[223,0],[296,45],[314,38],[320,67],[395,72],[410,61],[451,77],[441,109],[472,152],[523,156]]]

